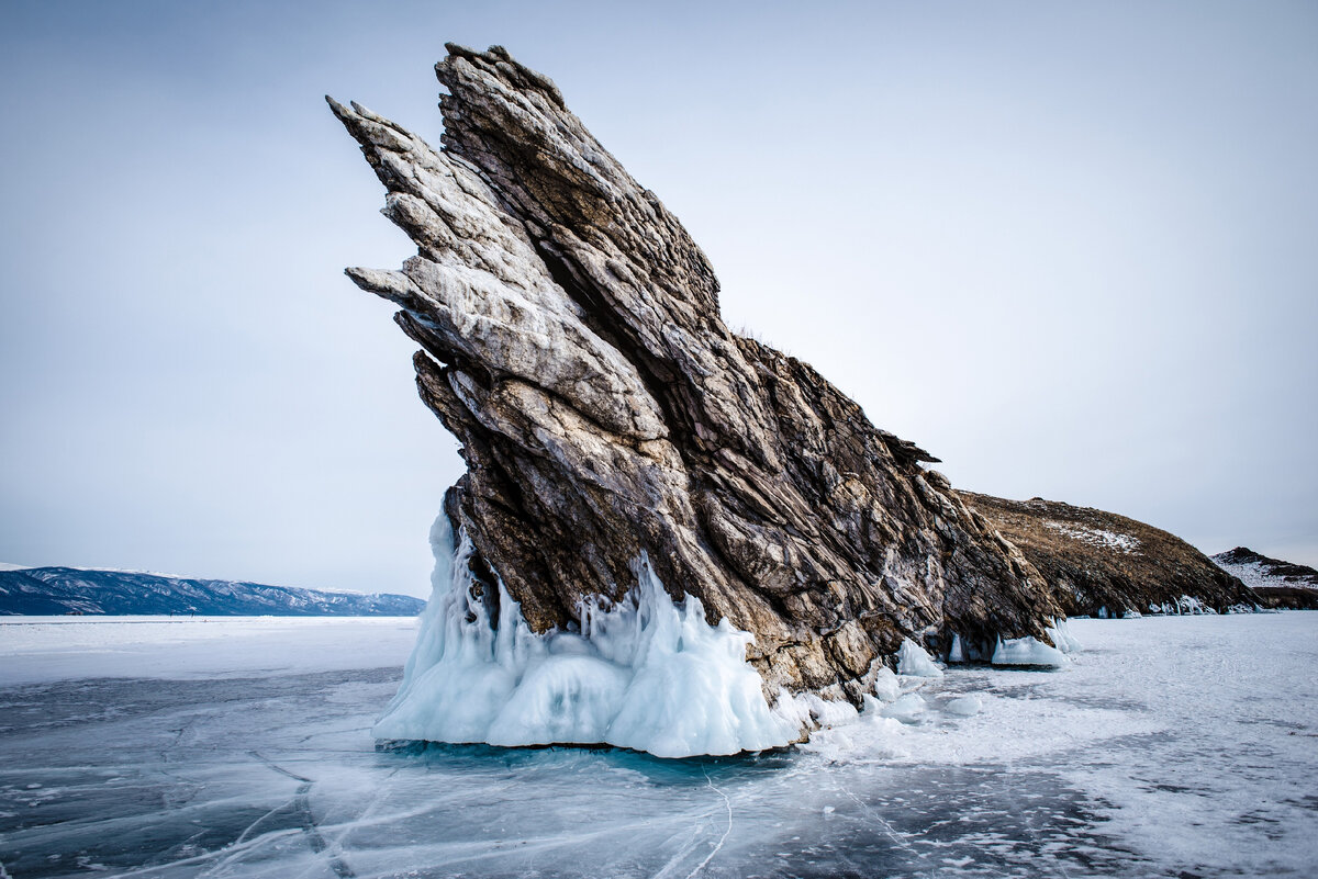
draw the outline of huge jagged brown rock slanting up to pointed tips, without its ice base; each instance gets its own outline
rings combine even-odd
[[[418,247],[348,274],[422,347],[468,465],[445,509],[532,629],[619,597],[645,551],[673,597],[754,633],[771,692],[858,699],[904,637],[1048,640],[1044,578],[933,458],[731,333],[700,247],[548,79],[448,49],[443,150],[331,101]]]

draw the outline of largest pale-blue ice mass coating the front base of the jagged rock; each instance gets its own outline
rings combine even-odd
[[[377,738],[515,746],[608,743],[656,757],[780,747],[800,732],[770,711],[746,662],[751,636],[673,604],[642,558],[614,607],[581,608],[581,632],[535,634],[498,583],[498,620],[472,578],[472,542],[431,529],[434,593]]]

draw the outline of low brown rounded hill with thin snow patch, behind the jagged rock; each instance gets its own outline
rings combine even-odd
[[[1207,555],[1152,525],[1041,497],[958,493],[1048,578],[1068,616],[1161,612],[1182,599],[1218,612],[1263,604]]]

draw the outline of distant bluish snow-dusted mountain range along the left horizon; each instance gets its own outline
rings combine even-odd
[[[0,615],[415,616],[407,595],[362,595],[76,567],[0,570]]]

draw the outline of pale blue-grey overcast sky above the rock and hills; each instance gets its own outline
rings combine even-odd
[[[953,484],[1318,565],[1318,4],[0,7],[0,561],[424,595],[461,472],[322,95],[507,46]]]

